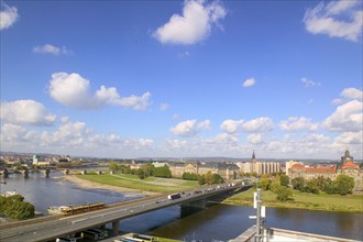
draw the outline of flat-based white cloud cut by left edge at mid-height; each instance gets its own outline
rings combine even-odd
[[[0,119],[13,124],[51,125],[56,116],[47,113],[45,107],[34,100],[16,100],[0,103]]]

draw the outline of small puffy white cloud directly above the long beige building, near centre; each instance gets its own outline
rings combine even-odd
[[[170,132],[178,136],[195,136],[201,130],[208,129],[210,129],[209,120],[205,120],[199,123],[197,120],[186,120],[170,128]]]

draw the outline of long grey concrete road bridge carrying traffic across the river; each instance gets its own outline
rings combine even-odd
[[[180,193],[180,198],[168,199],[167,195],[145,197],[136,200],[114,204],[106,209],[75,216],[48,216],[0,226],[0,241],[51,241],[62,235],[73,234],[91,228],[112,224],[113,234],[119,233],[120,220],[142,213],[180,205],[182,215],[190,208],[202,209],[208,199],[231,196],[252,185],[223,185],[204,187],[198,190]]]

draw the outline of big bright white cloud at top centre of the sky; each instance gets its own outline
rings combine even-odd
[[[226,14],[226,9],[217,1],[208,4],[204,0],[187,0],[183,15],[173,14],[153,36],[163,44],[195,44],[210,34],[213,24],[219,26],[218,21]]]

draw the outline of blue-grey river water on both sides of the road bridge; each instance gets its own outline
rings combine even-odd
[[[85,189],[66,180],[61,173],[30,174],[29,178],[12,174],[1,193],[12,191],[24,196],[35,210],[46,213],[48,206],[81,205],[96,201],[113,204],[140,198],[139,193],[118,193],[107,189]],[[185,241],[228,241],[254,224],[249,216],[252,207],[213,205],[205,210],[180,218],[179,207],[161,209],[135,218],[122,220],[120,230],[140,232]],[[297,230],[346,239],[362,240],[363,215],[350,212],[308,211],[300,209],[267,208],[267,227]]]

